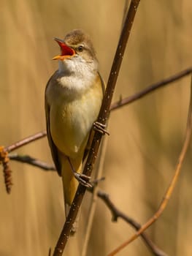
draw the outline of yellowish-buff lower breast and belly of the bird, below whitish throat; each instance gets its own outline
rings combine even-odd
[[[101,83],[91,86],[88,91],[70,101],[66,100],[62,91],[55,95],[50,104],[50,132],[53,142],[69,157],[83,154],[93,121],[101,107]]]

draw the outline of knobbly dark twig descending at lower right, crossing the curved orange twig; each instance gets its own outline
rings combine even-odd
[[[122,211],[120,211],[114,203],[110,200],[109,195],[107,195],[105,192],[98,191],[97,192],[98,197],[101,198],[101,200],[104,201],[106,206],[110,209],[112,213],[112,221],[118,221],[118,218],[121,218],[125,220],[128,224],[130,224],[132,227],[134,227],[135,230],[139,230],[141,225],[136,222],[134,219],[128,217],[126,214],[124,214]],[[147,244],[148,248],[153,252],[156,256],[167,256],[165,252],[163,252],[161,249],[156,246],[153,241],[150,240],[150,238],[147,236],[146,233],[142,233],[141,237],[145,241],[145,244]]]

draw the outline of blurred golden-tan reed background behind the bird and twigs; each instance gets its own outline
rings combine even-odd
[[[9,145],[45,129],[44,90],[57,69],[53,37],[81,28],[93,39],[104,79],[120,34],[124,0],[1,0],[0,144]],[[192,3],[145,0],[139,5],[118,78],[115,99],[191,66]],[[144,223],[157,209],[183,143],[190,78],[156,91],[110,116],[110,138],[101,188],[129,216]],[[51,162],[47,139],[17,151]],[[167,255],[192,255],[191,150],[161,219],[147,230]],[[0,176],[0,255],[42,256],[54,248],[64,223],[61,180],[56,173],[12,162],[7,195]],[[88,196],[87,196],[88,198]],[[84,200],[84,208],[88,208]],[[81,255],[85,218],[64,255]],[[107,255],[134,233],[111,222],[98,200],[87,256]],[[150,256],[139,238],[118,255]]]

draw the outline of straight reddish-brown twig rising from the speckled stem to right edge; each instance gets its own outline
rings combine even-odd
[[[133,94],[125,99],[120,99],[118,102],[112,103],[110,110],[111,111],[116,110],[132,102],[135,102],[136,100],[141,99],[142,97],[145,97],[147,94],[150,94],[153,91],[160,89],[163,86],[169,85],[170,83],[174,83],[176,80],[180,80],[181,78],[184,78],[185,76],[190,75],[191,72],[192,72],[192,68],[189,67],[188,69],[184,69],[183,71],[176,73],[175,75],[172,75],[169,78],[161,80],[158,83],[153,83],[151,86],[147,86],[147,88],[137,92],[136,94]]]

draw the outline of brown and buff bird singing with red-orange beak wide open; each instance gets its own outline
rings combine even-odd
[[[93,122],[99,116],[104,80],[88,34],[70,31],[64,39],[54,38],[61,48],[56,70],[45,89],[47,138],[55,168],[62,177],[66,216],[77,186],[89,186],[82,173],[88,153]]]

